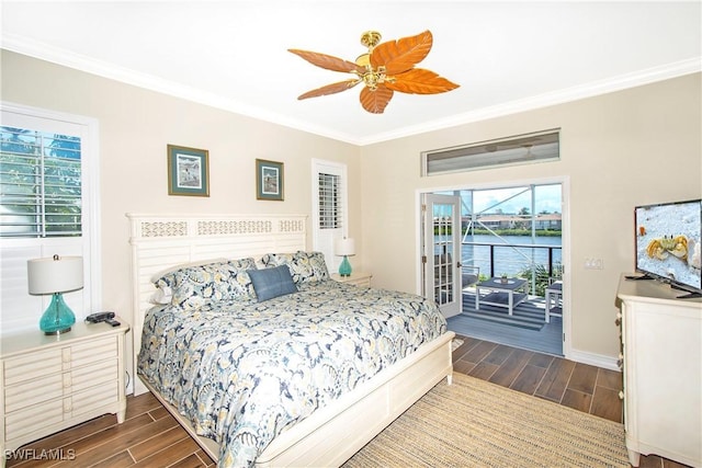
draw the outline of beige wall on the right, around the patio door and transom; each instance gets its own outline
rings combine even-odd
[[[571,346],[616,356],[615,292],[621,272],[634,266],[634,206],[702,196],[700,81],[698,73],[364,147],[363,261],[374,283],[416,290],[418,192],[564,180]],[[558,162],[419,175],[422,150],[550,128],[562,129]],[[602,259],[604,269],[586,270],[586,258]]]

